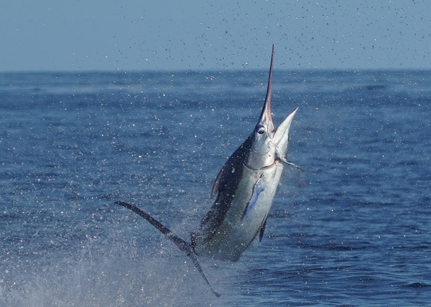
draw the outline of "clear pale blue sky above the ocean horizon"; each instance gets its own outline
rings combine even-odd
[[[429,0],[3,0],[0,71],[431,69]]]

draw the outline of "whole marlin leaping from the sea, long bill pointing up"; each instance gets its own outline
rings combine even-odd
[[[115,202],[142,216],[184,251],[211,288],[199,264],[199,257],[237,261],[259,235],[262,241],[269,209],[280,181],[284,164],[302,169],[287,160],[289,129],[298,110],[274,128],[271,115],[272,67],[274,45],[265,103],[251,135],[229,157],[215,178],[211,198],[214,204],[203,217],[198,233],[184,241],[141,209]],[[212,292],[220,296],[211,288]]]

